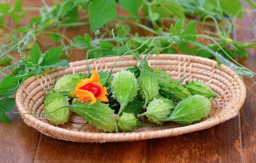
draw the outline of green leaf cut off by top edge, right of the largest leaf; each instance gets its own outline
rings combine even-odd
[[[119,0],[119,3],[124,10],[129,11],[132,15],[138,15],[141,0]]]

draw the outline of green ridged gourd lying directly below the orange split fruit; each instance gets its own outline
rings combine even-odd
[[[108,104],[102,103],[97,100],[94,104],[88,104],[85,102],[83,104],[71,105],[71,110],[76,114],[81,115],[84,120],[88,120],[89,124],[94,125],[99,130],[105,132],[116,131],[114,110],[110,109]]]

